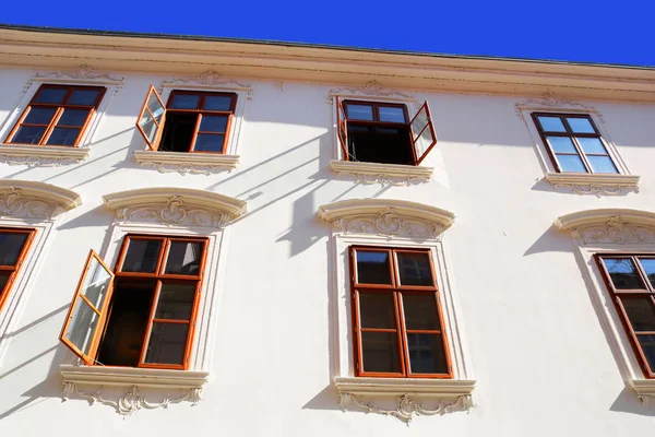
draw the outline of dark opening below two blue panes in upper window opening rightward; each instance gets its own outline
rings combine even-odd
[[[414,165],[409,127],[348,123],[350,161]]]

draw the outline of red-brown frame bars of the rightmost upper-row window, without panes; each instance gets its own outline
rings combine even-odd
[[[594,120],[592,119],[591,116],[588,116],[586,114],[533,113],[532,117],[533,117],[533,121],[537,128],[537,131],[539,132],[539,137],[541,138],[541,142],[546,146],[548,156],[550,157],[550,161],[552,162],[552,165],[555,166],[555,169],[557,170],[557,173],[576,173],[576,172],[562,170],[562,167],[557,158],[557,155],[579,156],[580,160],[582,160],[582,164],[584,165],[584,168],[586,169],[585,173],[587,173],[587,174],[594,174],[594,169],[593,169],[592,164],[590,163],[590,160],[587,156],[607,156],[611,161],[617,173],[600,173],[600,174],[602,175],[619,175],[621,173],[616,161],[609,154],[607,143],[603,139],[600,131],[596,127],[596,123],[594,123]],[[538,117],[558,118],[561,121],[561,123],[564,126],[565,132],[551,132],[551,131],[544,130],[544,127],[539,122]],[[594,133],[574,132],[573,129],[571,128],[569,121],[567,120],[568,118],[583,118],[583,119],[587,120],[590,122],[590,125],[592,125],[592,128],[594,129]],[[569,153],[569,152],[556,153],[555,150],[550,146],[550,143],[548,142],[547,137],[561,137],[561,138],[570,139],[571,142],[573,143],[573,146],[575,147],[575,153],[572,153],[572,152],[571,153]],[[597,138],[600,141],[600,143],[603,144],[603,147],[605,147],[606,153],[585,153],[576,138]],[[596,174],[598,174],[598,173],[596,173]]]

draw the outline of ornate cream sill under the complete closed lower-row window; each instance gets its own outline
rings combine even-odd
[[[368,413],[394,416],[407,423],[417,415],[469,410],[475,383],[474,380],[453,379],[334,378],[344,411],[358,406]],[[371,398],[395,398],[396,409],[378,406],[369,401]],[[428,403],[432,405],[428,406]]]

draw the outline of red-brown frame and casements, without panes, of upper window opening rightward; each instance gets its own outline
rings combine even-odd
[[[360,120],[348,118],[348,106],[357,105],[357,106],[370,106],[371,113],[373,116],[372,120]],[[402,108],[404,115],[404,122],[395,122],[395,121],[382,121],[380,120],[380,108],[389,107],[389,108]],[[414,122],[418,119],[419,115],[425,111],[426,125],[420,130],[414,129]],[[430,115],[430,106],[428,102],[424,102],[419,110],[416,113],[414,118],[409,120],[409,115],[407,113],[407,105],[397,104],[397,103],[383,103],[383,102],[367,102],[367,101],[353,101],[345,99],[343,101],[341,97],[336,97],[336,130],[340,145],[342,147],[342,153],[344,156],[344,161],[350,161],[350,154],[348,153],[348,123],[350,125],[364,125],[364,126],[376,126],[376,127],[398,127],[405,126],[408,131],[408,140],[412,145],[412,156],[414,160],[413,165],[420,165],[420,163],[428,156],[430,151],[437,144],[437,133],[434,131],[434,125],[432,123],[432,116]],[[428,130],[432,142],[426,150],[419,154],[417,150],[417,143],[419,139],[422,137],[425,131]]]

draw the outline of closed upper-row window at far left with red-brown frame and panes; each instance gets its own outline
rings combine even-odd
[[[41,85],[5,144],[78,146],[105,91],[103,86]]]

